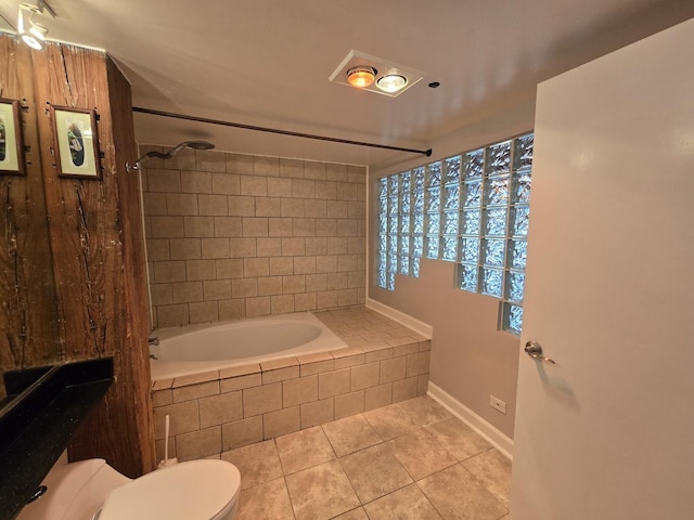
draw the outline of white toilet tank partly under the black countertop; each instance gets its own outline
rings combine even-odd
[[[16,520],[91,520],[106,495],[129,481],[102,458],[55,465],[41,483],[46,493]]]

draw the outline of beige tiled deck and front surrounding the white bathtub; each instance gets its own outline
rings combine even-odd
[[[364,307],[316,312],[347,348],[157,380],[157,459],[219,455],[426,393],[430,340]]]

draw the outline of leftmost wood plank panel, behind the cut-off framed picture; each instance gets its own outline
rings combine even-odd
[[[31,56],[0,36],[0,96],[20,100],[25,176],[0,177],[0,376],[62,360]],[[0,395],[4,386],[0,385]]]

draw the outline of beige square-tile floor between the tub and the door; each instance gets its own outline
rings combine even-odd
[[[511,463],[430,398],[224,452],[235,520],[507,520]]]

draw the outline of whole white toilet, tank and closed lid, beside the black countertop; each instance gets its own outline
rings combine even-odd
[[[180,463],[130,480],[101,458],[57,464],[17,520],[230,520],[241,473],[224,460]]]

